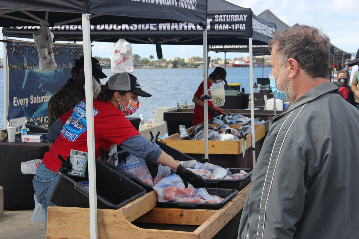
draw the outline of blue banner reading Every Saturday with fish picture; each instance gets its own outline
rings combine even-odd
[[[47,102],[71,77],[74,59],[83,56],[82,44],[53,43],[57,68],[40,71],[37,49],[33,42],[9,41],[9,123],[27,120],[47,123]],[[25,119],[26,118],[26,119]]]

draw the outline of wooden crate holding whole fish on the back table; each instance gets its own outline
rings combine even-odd
[[[215,126],[215,125],[212,125]],[[218,126],[218,125],[216,125]],[[239,129],[241,125],[231,125],[234,129]],[[188,135],[194,136],[193,126],[187,129]],[[265,126],[255,125],[255,138],[256,142],[265,136]],[[195,153],[204,154],[204,140],[185,140],[186,137],[180,137],[180,134],[173,134],[162,140],[163,143],[175,148],[182,153]],[[209,154],[241,154],[244,139],[241,140],[208,140],[208,153]],[[247,135],[246,149],[252,146],[252,134]]]

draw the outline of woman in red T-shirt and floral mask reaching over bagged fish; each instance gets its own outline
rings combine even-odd
[[[187,185],[187,180],[199,180],[206,184],[201,176],[182,167],[157,144],[140,135],[126,119],[125,115],[133,114],[139,107],[138,96],[150,97],[151,95],[141,90],[135,76],[126,72],[111,76],[107,83],[101,86],[97,99],[93,99],[95,156],[98,157],[101,153],[99,147],[106,150],[116,143],[134,156],[157,161],[177,170],[177,174],[185,185]],[[32,181],[37,201],[45,210],[45,217],[47,207],[55,206],[50,201],[50,196],[59,177],[57,169],[62,167],[57,155],[60,154],[66,159],[71,149],[87,152],[86,105],[83,100],[62,115],[51,126],[46,136],[51,146]]]

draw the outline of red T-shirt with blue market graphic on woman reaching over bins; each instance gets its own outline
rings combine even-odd
[[[120,145],[126,139],[140,133],[131,122],[111,102],[93,99],[95,156],[107,150],[113,143]],[[81,101],[73,109],[60,117],[64,127],[59,137],[51,145],[42,162],[52,171],[61,168],[60,154],[67,159],[71,149],[87,152],[86,101]]]

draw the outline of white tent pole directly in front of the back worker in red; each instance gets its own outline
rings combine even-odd
[[[203,92],[207,94],[207,75],[208,75],[208,56],[207,56],[207,28],[203,26]],[[204,99],[204,158],[208,159],[208,100]],[[204,163],[208,160],[205,160]]]

